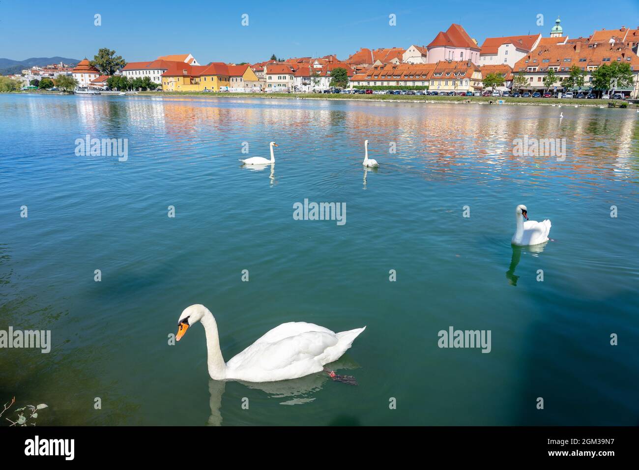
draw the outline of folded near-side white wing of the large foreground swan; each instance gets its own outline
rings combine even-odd
[[[307,331],[272,343],[256,342],[227,364],[231,378],[250,377],[251,381],[302,377],[322,370],[325,351],[338,342],[337,335]]]

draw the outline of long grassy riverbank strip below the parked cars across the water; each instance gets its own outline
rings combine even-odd
[[[178,97],[209,97],[209,98],[285,98],[302,100],[373,100],[373,101],[407,101],[427,103],[480,103],[480,104],[523,104],[532,106],[584,106],[607,107],[608,103],[615,103],[617,107],[621,100],[586,100],[566,98],[497,98],[497,97],[429,97],[420,95],[350,95],[342,93],[207,93],[203,91],[139,91],[138,95],[149,96],[178,96]],[[639,108],[638,105],[628,103],[628,109]]]

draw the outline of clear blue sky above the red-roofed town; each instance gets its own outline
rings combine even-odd
[[[273,6],[273,4],[280,4]],[[153,0],[0,0],[0,57],[93,58],[98,48],[115,49],[127,61],[190,52],[200,63],[257,62],[277,56],[344,59],[360,47],[426,45],[457,22],[480,44],[490,36],[548,36],[557,15],[564,34],[588,36],[594,29],[639,26],[639,0],[595,0],[534,5],[474,0],[355,2],[318,7],[317,2]],[[578,8],[577,8],[578,7]],[[102,26],[94,26],[94,15]],[[242,14],[249,26],[242,26]],[[389,26],[394,13],[396,26]],[[537,15],[544,26],[537,26]],[[630,23],[633,22],[633,23]]]

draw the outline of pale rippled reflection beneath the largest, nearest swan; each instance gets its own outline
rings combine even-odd
[[[325,365],[325,368],[330,370],[357,369],[358,367],[359,364],[346,356]],[[328,380],[331,380],[328,373],[318,372],[298,379],[277,380],[275,382],[242,382],[238,380],[238,383],[249,389],[261,390],[269,398],[283,400],[280,405],[302,405],[314,401],[316,397],[313,395],[320,391]],[[208,381],[209,406],[211,408],[211,415],[207,421],[208,426],[222,425],[222,395],[224,395],[226,383],[225,380],[210,379]],[[337,385],[347,386],[346,384]]]

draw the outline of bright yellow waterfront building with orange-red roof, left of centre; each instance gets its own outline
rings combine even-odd
[[[229,66],[222,62],[209,65],[172,63],[162,74],[164,91],[220,91],[231,86]]]

